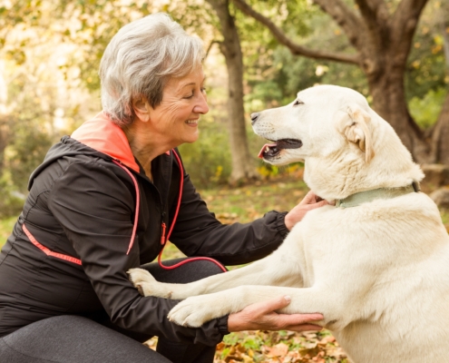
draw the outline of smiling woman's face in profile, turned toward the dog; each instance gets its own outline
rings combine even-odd
[[[150,122],[164,142],[176,147],[198,139],[200,114],[208,112],[204,74],[199,66],[184,77],[169,80],[161,104],[151,109]]]

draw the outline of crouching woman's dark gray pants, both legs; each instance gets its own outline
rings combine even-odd
[[[180,260],[164,264],[171,265]],[[221,272],[207,260],[192,261],[175,270],[162,270],[156,263],[142,268],[149,270],[156,280],[176,283],[200,280]],[[93,319],[63,315],[36,321],[0,338],[0,362],[213,362],[215,347],[159,338],[155,352],[141,344],[149,338],[114,326],[105,313],[96,314]]]

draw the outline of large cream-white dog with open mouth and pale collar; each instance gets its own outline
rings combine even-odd
[[[307,212],[278,250],[242,269],[185,285],[135,269],[134,285],[185,299],[169,314],[184,326],[289,295],[280,311],[322,313],[353,362],[449,361],[449,237],[393,128],[360,93],[331,85],[251,119],[272,141],[260,156],[304,161],[308,187],[336,205]]]

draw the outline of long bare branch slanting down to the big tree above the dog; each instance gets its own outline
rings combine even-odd
[[[267,26],[271,34],[274,35],[274,37],[278,40],[278,42],[280,44],[286,45],[292,54],[304,55],[309,58],[325,59],[327,61],[336,61],[347,64],[359,63],[358,55],[321,52],[301,46],[293,42],[290,38],[288,38],[288,36],[277,25],[275,25],[271,20],[268,19],[268,17],[261,15],[260,13],[255,11],[251,6],[245,3],[244,0],[232,0],[232,1],[241,12],[253,17],[257,21],[259,21],[259,23],[261,23],[262,25]]]

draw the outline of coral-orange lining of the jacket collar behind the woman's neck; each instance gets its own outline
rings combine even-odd
[[[105,153],[112,159],[122,162],[134,172],[140,167],[132,155],[130,142],[125,133],[105,113],[98,113],[93,119],[83,123],[71,136],[98,152]]]

